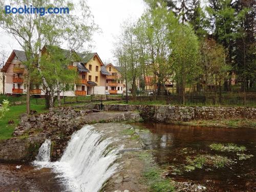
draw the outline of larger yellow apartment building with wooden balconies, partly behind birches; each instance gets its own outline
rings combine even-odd
[[[42,49],[42,54],[47,48]],[[62,49],[67,54],[71,51]],[[74,53],[79,55],[79,60],[70,62],[69,70],[76,70],[79,80],[74,82],[72,91],[62,92],[61,96],[86,96],[92,94],[105,94],[106,76],[111,74],[106,70],[103,62],[97,53]],[[8,95],[20,95],[27,93],[26,74],[27,70],[23,65],[26,54],[24,51],[13,50],[5,63],[2,71],[6,73],[5,90]],[[31,82],[30,94],[44,96],[44,88]]]

